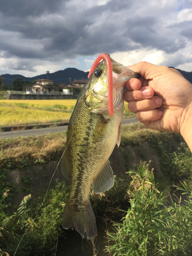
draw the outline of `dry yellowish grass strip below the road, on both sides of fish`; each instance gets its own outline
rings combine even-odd
[[[120,147],[138,145],[153,137],[170,141],[179,135],[147,129],[143,124],[123,125]],[[54,154],[62,151],[66,142],[65,133],[0,139],[0,157],[19,159],[28,157],[35,161],[52,160]],[[160,145],[162,147],[162,145]],[[1,160],[0,160],[1,164]]]

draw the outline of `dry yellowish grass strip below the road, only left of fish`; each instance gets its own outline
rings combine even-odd
[[[13,167],[22,165],[24,158],[29,163],[51,161],[61,156],[65,143],[66,133],[0,139],[0,165],[7,159]]]

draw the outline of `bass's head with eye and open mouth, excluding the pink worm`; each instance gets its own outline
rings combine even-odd
[[[113,76],[113,108],[115,111],[122,101],[126,82],[133,77],[139,78],[140,74],[118,63],[111,57],[110,60]],[[86,104],[93,113],[109,113],[108,79],[107,63],[102,59],[90,76],[86,86]]]

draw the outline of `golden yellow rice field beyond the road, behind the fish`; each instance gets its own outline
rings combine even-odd
[[[17,126],[69,121],[76,99],[66,100],[0,100],[0,129]],[[123,118],[134,117],[125,103]]]

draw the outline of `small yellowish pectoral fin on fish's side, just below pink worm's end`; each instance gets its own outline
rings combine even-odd
[[[99,118],[99,120],[95,126],[95,130],[93,132],[93,141],[94,142],[103,139],[104,135],[106,134],[106,130],[108,128],[109,120],[110,119],[105,119],[101,115],[101,117]]]

